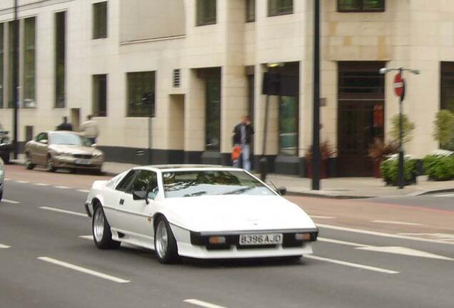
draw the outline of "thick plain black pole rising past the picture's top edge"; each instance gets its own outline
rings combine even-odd
[[[314,0],[312,189],[320,190],[320,2]]]

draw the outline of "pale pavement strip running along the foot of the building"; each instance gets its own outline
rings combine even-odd
[[[24,160],[11,163],[23,165]],[[138,165],[127,163],[106,162],[103,170],[106,175],[117,175]],[[266,182],[273,183],[277,188],[287,188],[288,195],[305,195],[312,197],[328,197],[336,199],[353,199],[385,196],[415,196],[430,193],[454,192],[454,180],[445,182],[428,181],[426,176],[418,177],[417,185],[409,185],[399,190],[395,186],[385,186],[382,179],[376,178],[329,178],[321,180],[322,190],[311,190],[311,180],[291,175],[268,175]]]

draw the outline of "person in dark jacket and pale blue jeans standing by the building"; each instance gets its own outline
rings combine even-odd
[[[251,170],[251,143],[254,129],[249,116],[243,116],[241,122],[233,128],[233,146],[241,147],[241,157],[243,158],[243,169]],[[233,165],[240,167],[240,160],[234,160]]]

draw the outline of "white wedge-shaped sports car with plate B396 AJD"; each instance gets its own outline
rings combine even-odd
[[[318,228],[280,190],[238,168],[147,166],[94,182],[85,208],[97,247],[126,242],[163,263],[311,254]]]

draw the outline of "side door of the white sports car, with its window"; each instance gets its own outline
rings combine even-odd
[[[133,200],[133,190],[148,189],[148,204],[146,200]],[[123,207],[118,210],[118,224],[121,230],[137,237],[139,240],[149,241],[153,236],[153,220],[151,212],[156,207],[155,197],[158,194],[158,180],[156,172],[140,170],[128,190],[123,193]]]

